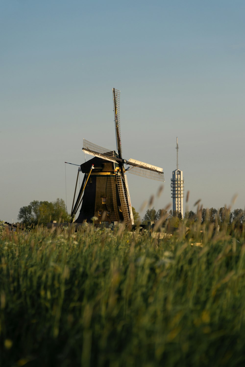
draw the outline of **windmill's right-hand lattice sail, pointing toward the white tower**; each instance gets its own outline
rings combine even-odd
[[[164,182],[163,169],[160,167],[131,158],[127,161],[127,164],[129,164],[129,168],[127,168],[127,172],[129,173]]]

